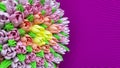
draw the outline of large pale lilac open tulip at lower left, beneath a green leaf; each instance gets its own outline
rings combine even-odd
[[[5,59],[11,59],[16,56],[16,51],[14,47],[8,47],[8,44],[3,45],[3,49],[1,51],[1,55],[5,57]]]

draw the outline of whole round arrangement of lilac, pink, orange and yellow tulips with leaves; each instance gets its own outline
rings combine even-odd
[[[0,2],[0,68],[59,68],[69,20],[55,0]]]

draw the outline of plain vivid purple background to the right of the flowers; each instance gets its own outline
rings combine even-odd
[[[60,68],[120,68],[120,1],[58,0],[70,23]]]

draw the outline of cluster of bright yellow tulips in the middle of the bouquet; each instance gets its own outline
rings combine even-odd
[[[36,34],[36,37],[33,39],[33,41],[40,46],[45,45],[46,41],[52,39],[52,33],[39,25],[32,26],[31,31]]]

